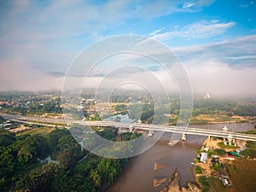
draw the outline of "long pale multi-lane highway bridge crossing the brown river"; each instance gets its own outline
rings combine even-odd
[[[234,139],[245,140],[245,141],[254,141],[256,142],[256,135],[243,134],[234,131],[218,131],[218,130],[209,130],[201,128],[191,128],[183,126],[169,126],[169,125],[148,125],[148,124],[139,124],[139,123],[119,123],[113,121],[71,121],[65,119],[49,119],[49,118],[38,118],[32,116],[23,116],[16,114],[7,114],[0,113],[4,119],[9,119],[21,123],[34,124],[34,125],[46,125],[46,126],[55,126],[50,123],[59,124],[67,123],[69,124],[78,124],[78,125],[89,125],[89,126],[112,126],[116,128],[130,129],[130,130],[145,130],[145,131],[166,131],[166,132],[176,132],[186,135],[199,135],[207,137],[232,137]],[[36,122],[35,122],[36,121]],[[42,123],[41,123],[42,122]],[[60,126],[60,125],[59,125]],[[70,126],[65,126],[67,129]]]

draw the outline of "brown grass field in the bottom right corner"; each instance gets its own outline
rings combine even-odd
[[[256,189],[256,160],[235,160],[225,166],[233,183],[233,191],[253,192]]]

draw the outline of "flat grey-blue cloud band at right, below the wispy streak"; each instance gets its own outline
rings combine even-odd
[[[173,48],[185,65],[204,66],[218,60],[232,68],[256,67],[256,35],[235,38],[220,43]]]

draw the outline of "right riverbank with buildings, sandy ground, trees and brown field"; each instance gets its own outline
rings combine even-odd
[[[238,148],[219,143],[222,143],[222,140],[207,138],[201,150],[197,150],[197,156],[201,153],[208,155],[206,163],[195,159],[193,168],[195,182],[201,185],[202,191],[250,192],[256,189],[256,159],[236,152],[238,148],[240,151],[248,146],[247,143],[238,142]]]

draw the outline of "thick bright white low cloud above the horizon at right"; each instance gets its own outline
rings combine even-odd
[[[256,67],[234,69],[220,61],[207,61],[204,66],[186,66],[195,94],[215,96],[256,96]]]

